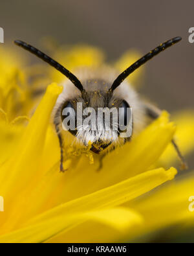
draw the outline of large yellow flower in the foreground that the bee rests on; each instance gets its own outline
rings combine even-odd
[[[177,170],[163,167],[173,158],[165,150],[176,130],[166,111],[131,143],[108,154],[100,172],[99,159],[88,148],[84,154],[67,148],[68,171],[61,173],[58,137],[50,123],[61,90],[57,84],[47,87],[28,125],[23,117],[10,121],[0,111],[0,196],[5,203],[0,242],[140,241],[182,221],[192,226],[188,197],[193,178],[174,183]],[[193,143],[184,137],[194,119],[184,114],[180,125],[182,119],[177,137],[187,152]]]

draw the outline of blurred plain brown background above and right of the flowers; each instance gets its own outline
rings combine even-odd
[[[1,0],[0,27],[5,44],[21,39],[40,47],[41,38],[52,36],[60,44],[102,47],[110,61],[128,49],[146,54],[159,43],[182,36],[178,45],[146,64],[139,89],[160,108],[176,111],[194,108],[194,43],[188,41],[193,12],[192,0]]]

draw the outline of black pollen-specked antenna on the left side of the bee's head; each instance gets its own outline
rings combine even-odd
[[[52,58],[50,58],[49,56],[47,56],[45,53],[39,51],[38,49],[36,49],[35,47],[33,47],[32,45],[28,45],[27,43],[20,41],[20,40],[16,40],[14,41],[14,43],[16,43],[16,45],[22,47],[23,49],[31,52],[32,54],[35,54],[36,56],[38,56],[38,58],[41,58],[44,62],[47,62],[49,65],[51,65],[52,67],[54,67],[55,69],[57,69],[59,72],[61,72],[63,75],[65,75],[67,78],[69,78],[69,80],[82,92],[84,91],[83,86],[80,82],[80,80],[78,80],[78,78],[76,76],[74,76],[72,73],[70,73],[70,71],[68,69],[65,69],[65,67],[63,67],[61,64],[59,64],[58,62],[56,62],[55,60],[53,60]]]

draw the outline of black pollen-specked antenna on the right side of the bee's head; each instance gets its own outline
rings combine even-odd
[[[178,43],[178,41],[182,40],[180,36],[177,36],[176,38],[172,38],[171,40],[165,41],[164,43],[161,43],[158,47],[147,53],[144,57],[137,60],[134,64],[132,64],[130,67],[125,69],[123,73],[121,73],[113,82],[113,85],[111,86],[110,91],[114,91],[116,87],[120,86],[120,84],[127,78],[127,76],[131,75],[136,69],[138,69],[141,65],[145,64],[148,60],[151,60],[154,56],[156,56],[158,53],[166,50],[171,45],[174,45],[175,43]]]

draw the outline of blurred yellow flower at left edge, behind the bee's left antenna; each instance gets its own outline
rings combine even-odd
[[[4,112],[9,122],[18,116],[26,118],[37,105],[38,92],[48,84],[42,77],[45,69],[40,65],[28,69],[25,58],[10,48],[1,48],[0,54],[0,115]]]

